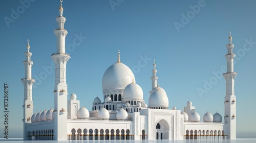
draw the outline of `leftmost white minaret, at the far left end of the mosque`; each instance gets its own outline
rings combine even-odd
[[[25,65],[25,78],[22,79],[24,85],[24,104],[23,104],[23,131],[24,131],[24,140],[27,140],[27,132],[26,125],[31,123],[31,116],[33,114],[33,101],[32,101],[32,86],[35,82],[34,79],[31,78],[31,69],[33,65],[33,61],[31,61],[32,53],[29,52],[29,40],[27,44],[28,51],[25,52],[26,60],[23,62]]]

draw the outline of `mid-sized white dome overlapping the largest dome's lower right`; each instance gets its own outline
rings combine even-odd
[[[133,82],[124,88],[123,99],[143,99],[143,90]]]

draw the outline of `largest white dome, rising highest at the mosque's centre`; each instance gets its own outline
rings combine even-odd
[[[106,69],[102,78],[102,89],[124,89],[132,83],[133,79],[135,80],[133,71],[125,64],[118,62]]]

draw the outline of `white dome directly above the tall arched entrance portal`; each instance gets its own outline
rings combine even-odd
[[[164,89],[160,88],[159,86],[156,88],[158,90],[154,91],[150,95],[150,99],[148,100],[148,107],[169,107],[169,100]]]

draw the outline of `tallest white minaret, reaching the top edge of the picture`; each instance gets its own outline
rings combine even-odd
[[[57,52],[52,54],[55,62],[55,85],[54,85],[54,140],[67,140],[67,117],[68,117],[68,85],[66,82],[66,64],[70,56],[65,53],[65,38],[68,31],[64,29],[66,18],[62,16],[62,0],[60,0],[59,16],[56,17],[58,28],[54,30],[57,37]]]

